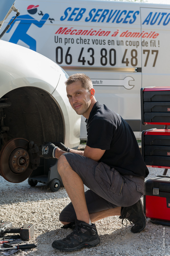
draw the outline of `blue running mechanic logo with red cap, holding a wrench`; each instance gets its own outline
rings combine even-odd
[[[37,12],[37,7],[38,6],[39,5],[36,5],[36,6],[35,5],[29,5],[27,7],[28,13],[35,14]],[[21,40],[25,44],[27,44],[30,47],[31,50],[36,51],[36,40],[34,38],[32,38],[31,36],[29,36],[27,34],[27,31],[30,28],[31,24],[34,24],[37,27],[41,28],[44,25],[44,23],[46,22],[46,20],[49,18],[49,14],[47,14],[47,13],[43,14],[42,11],[41,11],[41,13],[39,15],[43,16],[40,21],[37,21],[36,19],[34,19],[32,16],[30,16],[28,14],[18,16],[14,20],[14,22],[11,24],[11,27],[6,32],[6,33],[9,33],[9,31],[11,30],[12,26],[14,25],[14,23],[16,21],[20,20],[20,23],[18,24],[16,30],[14,31],[13,35],[11,36],[9,42],[17,44],[17,42],[19,40]],[[15,16],[12,17],[12,19],[13,18],[15,18]],[[10,22],[12,21],[12,19],[10,20]],[[50,19],[50,22],[52,23],[51,20],[54,20],[54,19]]]

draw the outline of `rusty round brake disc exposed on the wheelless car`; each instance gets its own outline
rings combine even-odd
[[[9,182],[20,183],[33,171],[29,155],[29,141],[14,138],[8,141],[0,152],[0,174]]]

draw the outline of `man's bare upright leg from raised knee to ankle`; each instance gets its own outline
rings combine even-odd
[[[77,219],[89,223],[90,217],[87,210],[82,179],[73,171],[64,155],[59,157],[57,169],[67,194],[72,201]]]

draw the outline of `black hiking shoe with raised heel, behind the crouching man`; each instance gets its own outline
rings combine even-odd
[[[132,206],[122,207],[121,216],[119,218],[122,219],[122,225],[124,225],[124,219],[127,219],[131,224],[134,224],[134,226],[131,228],[132,233],[138,233],[142,231],[146,226],[146,216],[143,212],[143,205],[141,200],[139,199],[139,201]],[[124,226],[127,226],[127,220],[126,225]]]

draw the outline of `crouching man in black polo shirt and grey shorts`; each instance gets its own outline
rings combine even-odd
[[[49,142],[41,146],[41,152],[46,158],[58,158],[58,172],[71,199],[59,220],[64,228],[73,226],[73,232],[54,241],[52,247],[73,251],[96,246],[100,239],[91,222],[108,216],[118,215],[122,223],[124,218],[133,222],[133,233],[145,228],[140,197],[149,171],[132,129],[120,115],[96,101],[89,77],[80,73],[70,76],[66,90],[72,108],[86,118],[85,150]],[[89,188],[85,193],[84,184]]]

